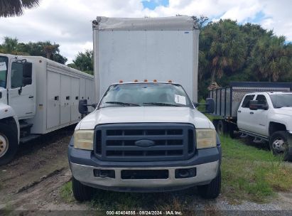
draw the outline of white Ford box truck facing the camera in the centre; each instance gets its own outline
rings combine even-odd
[[[220,139],[193,104],[198,34],[188,16],[93,21],[99,103],[77,124],[68,146],[77,200],[89,200],[93,188],[159,192],[198,186],[204,198],[220,194]],[[80,101],[80,112],[88,106]],[[206,109],[214,109],[212,99]]]

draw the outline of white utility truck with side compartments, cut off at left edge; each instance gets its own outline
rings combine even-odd
[[[93,76],[43,57],[0,53],[0,165],[18,144],[80,120],[93,101]]]

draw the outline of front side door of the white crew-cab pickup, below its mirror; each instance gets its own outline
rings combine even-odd
[[[254,110],[254,133],[266,136],[266,127],[269,126],[266,125],[266,119],[269,113],[269,105],[265,95],[256,95],[256,100],[258,101],[258,104],[261,104],[267,108]]]

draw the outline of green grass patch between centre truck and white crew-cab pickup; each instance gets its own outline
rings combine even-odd
[[[222,194],[229,200],[264,202],[292,189],[292,168],[270,151],[221,137]]]

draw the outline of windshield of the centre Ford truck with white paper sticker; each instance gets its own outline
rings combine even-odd
[[[183,87],[171,83],[129,83],[111,85],[102,98],[103,107],[191,107]]]

